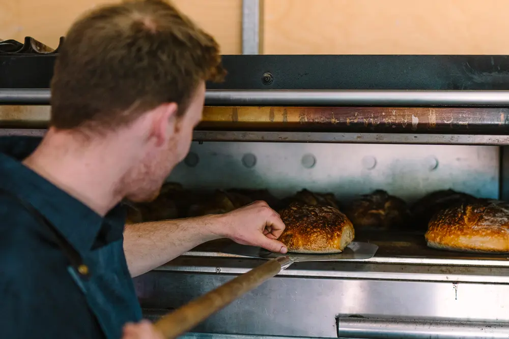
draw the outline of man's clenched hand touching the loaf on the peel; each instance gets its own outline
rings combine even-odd
[[[276,240],[285,230],[279,214],[265,201],[256,201],[217,216],[219,235],[242,245],[260,246],[272,252],[287,253],[286,246]]]

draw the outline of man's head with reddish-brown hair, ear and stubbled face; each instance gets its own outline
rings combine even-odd
[[[50,126],[94,139],[120,131],[139,137],[138,159],[122,180],[128,198],[148,200],[189,150],[205,81],[223,75],[214,39],[167,2],[103,7],[66,36],[51,82]]]

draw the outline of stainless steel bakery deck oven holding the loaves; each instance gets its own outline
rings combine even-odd
[[[0,54],[3,135],[42,135],[57,51],[27,38]],[[17,46],[17,47],[16,47]],[[308,189],[340,201],[383,189],[509,198],[509,57],[224,56],[188,157],[168,180],[200,190]],[[506,338],[509,255],[427,248],[374,232],[375,257],[296,263],[188,333],[196,338]],[[508,240],[509,241],[509,240]],[[156,319],[263,261],[206,243],[139,276]]]

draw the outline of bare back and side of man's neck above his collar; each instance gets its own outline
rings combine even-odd
[[[130,167],[128,145],[110,139],[49,130],[23,164],[104,216],[123,198],[119,186]]]

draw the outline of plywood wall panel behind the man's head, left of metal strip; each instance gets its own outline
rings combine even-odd
[[[224,54],[239,54],[242,0],[174,0],[221,45]],[[108,0],[0,0],[0,39],[32,36],[56,47],[71,23],[84,11]]]

